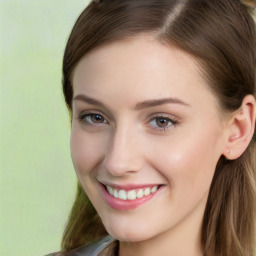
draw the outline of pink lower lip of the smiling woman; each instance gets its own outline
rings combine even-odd
[[[107,192],[105,186],[101,185],[101,190],[102,190],[104,200],[113,209],[121,210],[121,211],[133,210],[133,209],[143,205],[144,203],[150,201],[153,197],[155,197],[162,188],[163,188],[163,186],[161,186],[153,194],[150,194],[150,195],[142,197],[142,198],[138,198],[138,199],[135,199],[135,200],[121,200],[119,198],[115,198],[114,196],[110,195]]]

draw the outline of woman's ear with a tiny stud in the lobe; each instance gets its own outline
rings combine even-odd
[[[255,98],[252,95],[247,95],[225,128],[226,148],[223,155],[227,159],[237,159],[246,150],[254,134],[255,118]]]

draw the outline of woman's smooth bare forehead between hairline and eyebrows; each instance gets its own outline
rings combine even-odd
[[[126,97],[131,101],[179,97],[189,104],[205,97],[215,101],[196,60],[149,35],[91,51],[75,68],[73,86],[74,96],[108,95],[113,100]]]

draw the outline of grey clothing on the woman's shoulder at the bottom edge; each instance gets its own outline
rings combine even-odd
[[[106,236],[100,241],[90,245],[81,246],[68,252],[56,252],[45,256],[97,256],[114,241],[115,239],[111,236]]]

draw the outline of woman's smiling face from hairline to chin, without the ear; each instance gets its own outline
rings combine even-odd
[[[200,233],[224,143],[193,58],[150,36],[114,42],[79,62],[73,87],[72,159],[107,231],[133,242]]]

